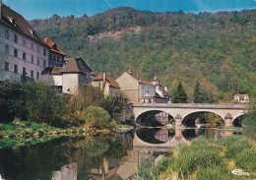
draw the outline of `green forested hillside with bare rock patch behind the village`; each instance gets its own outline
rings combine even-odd
[[[156,72],[169,88],[174,79],[181,81],[190,100],[197,80],[220,101],[256,94],[256,10],[195,15],[116,8],[31,24],[95,73],[116,78],[130,67],[151,79]]]

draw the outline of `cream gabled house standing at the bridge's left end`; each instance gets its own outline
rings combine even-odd
[[[156,94],[156,87],[152,82],[134,75],[129,69],[116,79],[121,92],[129,102],[152,103]]]

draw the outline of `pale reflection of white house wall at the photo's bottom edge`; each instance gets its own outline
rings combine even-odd
[[[51,180],[77,180],[78,164],[71,163],[61,167],[60,171],[55,171],[52,174]]]

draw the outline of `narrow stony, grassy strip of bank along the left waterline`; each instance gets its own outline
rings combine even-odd
[[[0,149],[32,146],[64,136],[123,133],[132,129],[133,127],[129,125],[117,125],[116,128],[101,130],[82,127],[61,129],[45,123],[15,120],[10,123],[0,123]]]

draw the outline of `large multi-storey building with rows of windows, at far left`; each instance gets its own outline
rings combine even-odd
[[[40,79],[48,47],[22,15],[0,2],[0,81]]]

